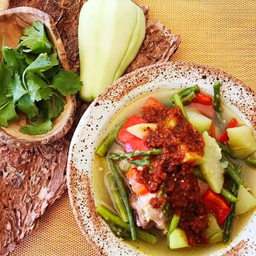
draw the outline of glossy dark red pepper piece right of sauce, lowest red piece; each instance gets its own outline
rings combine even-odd
[[[203,195],[203,202],[207,209],[215,214],[218,224],[222,225],[231,212],[227,201],[221,195],[207,189]]]

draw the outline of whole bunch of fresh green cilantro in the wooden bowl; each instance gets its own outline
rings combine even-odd
[[[3,42],[0,50],[0,126],[7,127],[22,112],[28,121],[21,132],[47,133],[64,109],[64,97],[81,89],[79,77],[61,68],[40,21],[24,29],[16,49]]]

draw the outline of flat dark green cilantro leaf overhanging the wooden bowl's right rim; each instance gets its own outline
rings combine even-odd
[[[61,70],[52,81],[52,88],[57,89],[63,96],[75,94],[82,87],[79,76],[72,71]]]

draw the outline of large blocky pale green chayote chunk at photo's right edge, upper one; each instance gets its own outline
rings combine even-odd
[[[247,125],[228,128],[227,135],[227,145],[234,157],[242,159],[256,150],[256,139],[252,129]]]

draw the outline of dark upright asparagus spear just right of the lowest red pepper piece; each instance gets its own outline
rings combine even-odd
[[[241,173],[241,164],[239,164],[236,168],[236,173],[239,175]],[[230,184],[230,192],[237,197],[239,190],[239,185],[234,182],[234,180]],[[225,224],[224,234],[223,234],[223,241],[227,243],[230,239],[230,232],[233,223],[233,218],[235,216],[236,210],[236,202],[230,202],[231,212],[230,215],[227,216],[227,221]]]

